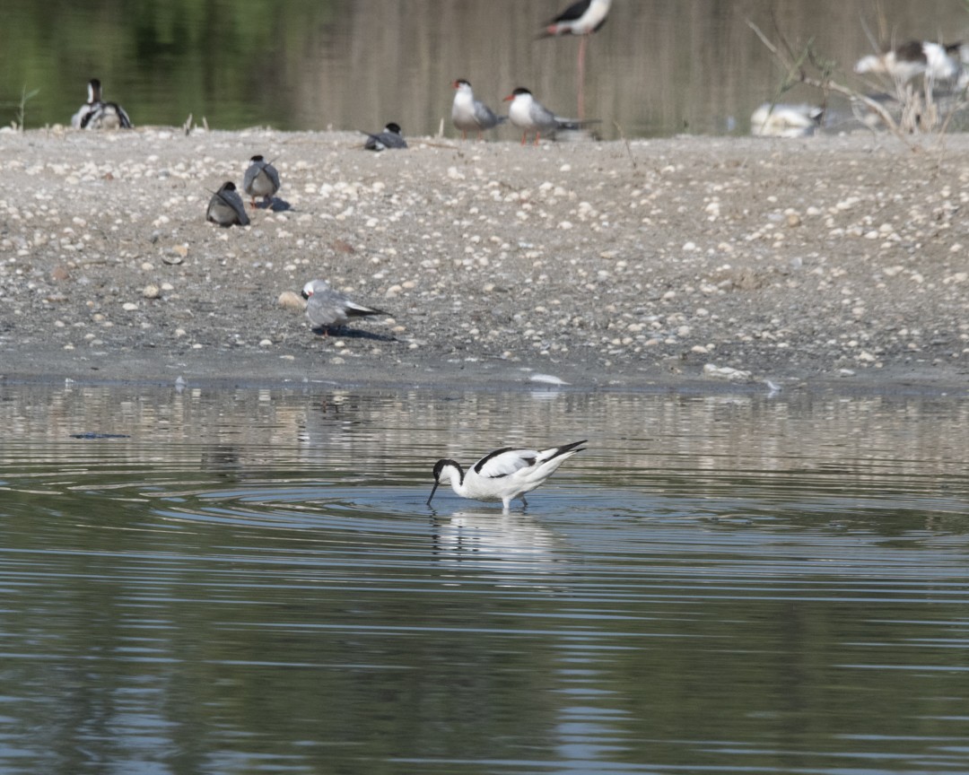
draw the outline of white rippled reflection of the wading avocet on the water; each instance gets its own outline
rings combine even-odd
[[[554,559],[554,534],[525,514],[454,511],[451,516],[434,516],[431,522],[434,554],[439,559],[538,563]]]

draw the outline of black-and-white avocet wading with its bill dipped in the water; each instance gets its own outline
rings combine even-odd
[[[543,449],[495,449],[465,471],[459,463],[442,459],[434,464],[434,488],[427,505],[441,482],[450,482],[453,491],[462,498],[475,501],[501,501],[508,511],[512,501],[521,499],[528,506],[525,495],[541,486],[555,470],[576,452],[585,449],[580,442]]]

